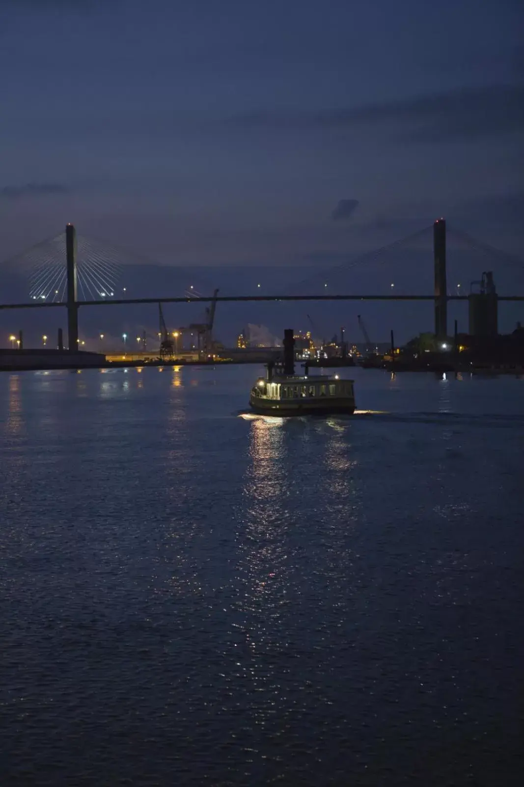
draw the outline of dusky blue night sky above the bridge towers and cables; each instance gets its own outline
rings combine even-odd
[[[3,259],[337,260],[437,216],[519,254],[520,0],[0,0]]]

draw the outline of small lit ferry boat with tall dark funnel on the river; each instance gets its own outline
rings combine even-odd
[[[291,328],[284,331],[284,368],[275,368],[274,363],[266,368],[266,378],[255,382],[249,397],[251,408],[259,415],[353,415],[353,380],[341,380],[339,375],[309,375],[307,364],[304,375],[295,375],[295,339]]]

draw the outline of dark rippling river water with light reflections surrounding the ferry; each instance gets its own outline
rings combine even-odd
[[[517,784],[524,379],[258,371],[0,375],[0,784]]]

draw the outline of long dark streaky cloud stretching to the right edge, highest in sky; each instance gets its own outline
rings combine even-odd
[[[251,113],[240,127],[335,130],[386,126],[402,139],[448,142],[524,129],[524,85],[499,85],[420,96],[405,101],[305,113]]]

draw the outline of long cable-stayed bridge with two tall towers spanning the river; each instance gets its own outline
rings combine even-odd
[[[431,260],[431,248],[433,251]],[[475,268],[464,265],[464,253],[475,260]],[[328,253],[325,259],[329,260]],[[462,260],[462,261],[461,261]],[[317,253],[317,263],[323,261]],[[152,260],[111,244],[76,235],[68,224],[64,233],[39,242],[5,260],[27,277],[27,301],[0,304],[0,309],[68,309],[68,346],[78,344],[78,312],[94,305],[211,302],[213,286],[196,280],[194,269],[178,268],[180,293],[155,297],[129,297],[123,286],[123,272],[132,264]],[[288,268],[291,282],[282,281],[269,294],[260,290],[248,294],[224,294],[217,301],[434,301],[435,334],[447,335],[448,301],[467,301],[468,281],[480,278],[482,270],[500,267],[524,270],[522,262],[508,253],[488,246],[464,232],[446,227],[440,219],[429,227],[398,241],[343,258],[304,276],[301,268]],[[367,286],[362,283],[367,274]],[[190,276],[190,279],[189,279]],[[280,279],[280,277],[279,277]],[[370,285],[371,282],[371,285]],[[452,284],[449,284],[453,282]],[[177,287],[178,289],[178,287]],[[210,294],[203,295],[201,290]],[[265,288],[266,290],[266,288]],[[524,301],[524,295],[500,294],[500,301]]]

